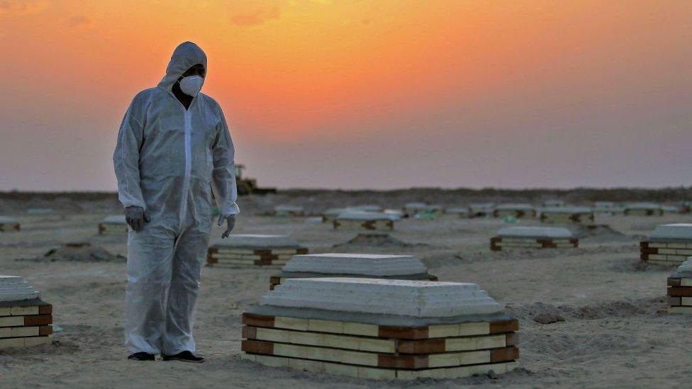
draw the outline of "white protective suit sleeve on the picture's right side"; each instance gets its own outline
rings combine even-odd
[[[228,216],[240,213],[240,208],[235,203],[238,199],[238,188],[235,186],[235,148],[221,108],[218,108],[218,113],[221,120],[211,150],[211,187],[221,215]]]

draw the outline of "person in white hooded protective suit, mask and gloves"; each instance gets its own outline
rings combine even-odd
[[[113,153],[130,225],[125,346],[128,359],[201,362],[192,335],[209,242],[213,188],[228,237],[240,212],[234,148],[221,107],[199,93],[206,55],[176,47],[166,75],[130,104]]]

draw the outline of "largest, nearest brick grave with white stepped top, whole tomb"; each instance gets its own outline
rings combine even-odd
[[[242,358],[373,379],[516,366],[518,320],[474,283],[291,278],[242,315]]]

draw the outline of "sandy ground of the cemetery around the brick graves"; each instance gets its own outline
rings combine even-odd
[[[266,202],[267,199],[251,200]],[[238,233],[288,234],[311,252],[330,252],[355,236],[303,219],[243,214]],[[665,313],[671,269],[638,264],[638,241],[662,222],[690,216],[598,217],[624,235],[582,239],[579,249],[491,253],[500,220],[403,220],[394,237],[407,247],[341,246],[339,251],[415,254],[441,281],[479,283],[520,318],[520,368],[498,378],[383,383],[257,366],[238,359],[240,314],[267,291],[274,269],[202,271],[196,320],[201,365],[125,360],[123,262],[22,261],[74,240],[125,254],[125,239],[99,237],[106,213],[17,218],[22,231],[0,235],[0,274],[25,276],[54,306],[62,331],[52,345],[0,351],[0,386],[99,388],[676,387],[692,379],[692,317]],[[523,225],[535,222],[523,222]],[[218,237],[221,230],[214,230]],[[554,313],[564,321],[539,324]]]

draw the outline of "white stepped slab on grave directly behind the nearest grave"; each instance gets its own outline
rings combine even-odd
[[[403,276],[428,272],[423,262],[411,255],[335,253],[294,255],[283,270],[365,276]]]

